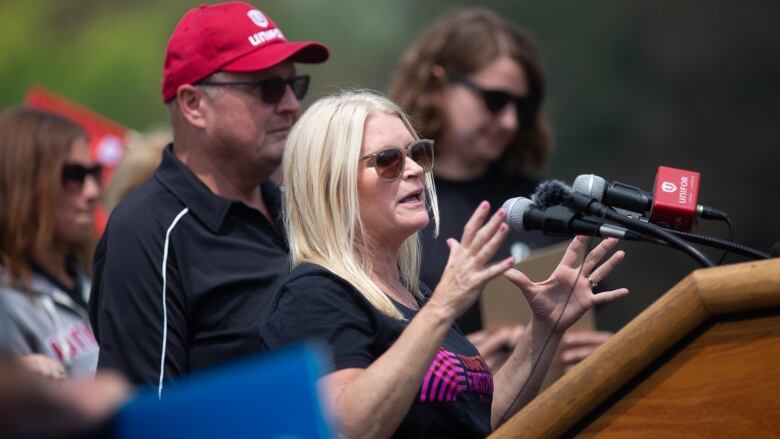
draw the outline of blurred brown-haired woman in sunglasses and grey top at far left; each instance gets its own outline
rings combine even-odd
[[[78,125],[25,107],[0,115],[0,345],[53,378],[97,364],[86,303],[99,181]]]

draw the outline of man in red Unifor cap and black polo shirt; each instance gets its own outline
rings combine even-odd
[[[243,2],[192,9],[165,54],[173,144],[116,209],[95,253],[98,367],[137,384],[260,349],[263,311],[288,270],[280,165],[309,77],[328,49],[290,42]]]

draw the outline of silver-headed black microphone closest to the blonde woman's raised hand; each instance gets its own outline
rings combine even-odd
[[[642,234],[632,230],[580,218],[565,206],[542,210],[528,198],[517,197],[506,200],[503,208],[507,213],[506,223],[514,232],[541,230],[548,236],[588,235],[627,241],[644,240]]]

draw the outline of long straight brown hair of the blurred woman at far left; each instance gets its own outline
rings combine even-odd
[[[54,238],[54,206],[62,191],[62,165],[73,143],[87,138],[68,119],[27,107],[0,115],[0,263],[28,283],[34,249]],[[73,249],[82,261],[87,247]]]

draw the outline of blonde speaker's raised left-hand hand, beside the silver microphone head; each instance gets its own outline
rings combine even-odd
[[[504,209],[498,209],[485,223],[489,212],[490,204],[483,201],[463,228],[460,242],[447,240],[450,257],[431,302],[443,305],[453,319],[474,304],[489,280],[512,266],[511,257],[488,264],[509,231]]]

